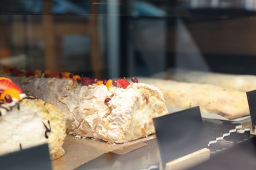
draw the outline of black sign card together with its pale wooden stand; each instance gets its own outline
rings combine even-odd
[[[209,160],[200,107],[154,118],[160,169],[187,169]]]

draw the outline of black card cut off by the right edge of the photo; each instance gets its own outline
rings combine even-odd
[[[256,90],[253,90],[251,92],[246,92],[249,110],[251,114],[251,124],[253,126],[253,129],[255,129],[256,124]]]

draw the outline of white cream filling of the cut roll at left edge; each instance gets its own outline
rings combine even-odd
[[[47,143],[42,118],[36,114],[35,108],[22,107],[18,110],[16,105],[11,111],[3,108],[0,111],[0,154]]]

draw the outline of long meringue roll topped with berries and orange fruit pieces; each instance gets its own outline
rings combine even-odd
[[[168,113],[160,90],[136,78],[106,81],[67,72],[6,72],[24,92],[62,110],[66,131],[77,137],[126,143],[155,133],[152,118]]]

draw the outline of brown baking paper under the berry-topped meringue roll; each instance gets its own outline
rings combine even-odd
[[[156,138],[156,135],[150,135],[149,137],[144,137],[129,143],[110,144],[104,141],[79,139],[75,138],[74,135],[67,135],[63,144],[65,154],[52,161],[53,169],[75,169],[107,152],[125,154],[131,152],[131,150],[146,146],[144,141],[149,141],[154,138]]]

